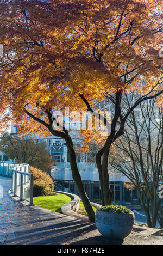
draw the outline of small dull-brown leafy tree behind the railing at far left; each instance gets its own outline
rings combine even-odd
[[[52,167],[44,142],[37,143],[30,136],[20,137],[5,133],[0,141],[0,149],[9,159],[19,163],[28,163],[30,166],[47,171]]]

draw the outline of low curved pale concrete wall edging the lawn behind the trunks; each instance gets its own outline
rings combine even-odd
[[[60,193],[60,194],[66,194],[67,196],[72,198],[71,202],[68,202],[68,203],[62,205],[61,211],[63,214],[74,217],[74,218],[80,218],[81,220],[84,220],[84,221],[89,221],[87,216],[77,213],[79,210],[80,198],[76,194],[71,194],[71,193],[57,191],[57,190],[54,190],[54,192]],[[95,206],[96,208],[101,208],[100,204],[91,202],[91,205]]]

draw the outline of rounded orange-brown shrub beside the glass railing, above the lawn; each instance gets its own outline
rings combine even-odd
[[[33,185],[33,196],[39,197],[47,195],[54,189],[53,178],[42,170],[31,167],[30,173],[33,174],[34,185]]]

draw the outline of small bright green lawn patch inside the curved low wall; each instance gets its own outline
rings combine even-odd
[[[61,212],[61,206],[71,200],[71,197],[57,193],[57,196],[34,197],[33,203],[51,211]]]

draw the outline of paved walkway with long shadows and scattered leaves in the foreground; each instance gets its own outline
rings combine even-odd
[[[163,245],[156,236],[105,239],[91,222],[14,202],[10,187],[11,179],[0,176],[0,245]]]

